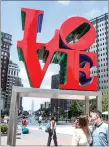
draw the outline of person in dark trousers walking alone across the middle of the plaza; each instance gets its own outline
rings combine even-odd
[[[54,140],[54,145],[58,146],[57,145],[57,135],[56,135],[56,121],[55,121],[54,117],[51,118],[50,130],[49,130],[48,133],[49,133],[49,136],[48,136],[47,146],[50,146],[52,137],[53,137],[53,140]]]

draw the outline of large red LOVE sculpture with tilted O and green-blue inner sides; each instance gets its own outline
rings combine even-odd
[[[39,88],[48,66],[55,63],[60,64],[59,89],[97,91],[98,78],[90,76],[90,69],[97,66],[97,54],[86,52],[96,39],[92,23],[82,17],[71,17],[55,31],[48,43],[38,43],[43,14],[41,10],[22,8],[24,36],[18,41],[17,48],[31,86]],[[43,69],[39,59],[45,63]]]

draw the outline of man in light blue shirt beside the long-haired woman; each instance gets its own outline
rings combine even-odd
[[[108,124],[102,121],[102,113],[97,111],[90,112],[92,128],[92,145],[93,146],[108,146]]]

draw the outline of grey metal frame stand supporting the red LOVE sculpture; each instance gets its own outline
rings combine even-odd
[[[7,144],[10,146],[16,145],[17,118],[19,100],[21,97],[35,98],[55,98],[55,99],[71,99],[85,101],[85,114],[89,114],[89,100],[97,99],[97,108],[102,110],[102,92],[101,91],[76,91],[76,90],[59,90],[59,89],[40,89],[40,88],[23,88],[13,86],[10,119],[8,125]]]

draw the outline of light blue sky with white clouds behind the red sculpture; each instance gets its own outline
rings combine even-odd
[[[32,8],[44,11],[41,33],[37,42],[46,43],[52,39],[55,30],[72,16],[93,19],[108,12],[108,1],[2,1],[1,2],[1,30],[12,35],[11,60],[19,65],[20,77],[24,87],[30,87],[23,62],[19,61],[16,44],[22,40],[21,8]],[[47,70],[41,88],[50,89],[51,76],[59,72],[59,66],[51,64]],[[32,100],[34,109],[50,99],[23,98],[24,110],[31,110]]]

